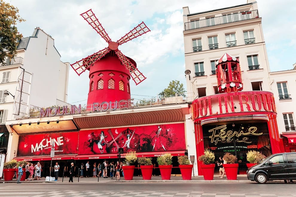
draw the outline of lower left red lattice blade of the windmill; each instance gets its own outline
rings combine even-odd
[[[92,64],[96,61],[100,60],[110,51],[109,47],[104,48],[103,50],[98,51],[86,58],[83,58],[74,64],[71,64],[71,67],[75,70],[75,72],[80,76],[81,73],[86,71]]]

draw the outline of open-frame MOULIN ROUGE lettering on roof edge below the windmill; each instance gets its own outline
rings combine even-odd
[[[93,103],[91,105],[91,109],[93,112],[101,112],[101,111],[107,111],[107,110],[125,110],[134,108],[134,103],[132,102],[134,99],[128,99],[128,100],[120,100],[120,101],[109,101],[109,102],[101,102],[101,103]],[[89,109],[89,107],[86,107]],[[89,111],[90,111],[89,110]],[[62,115],[71,115],[71,114],[77,114],[81,113],[81,105],[71,105],[68,106],[62,106],[62,107],[48,107],[45,110],[40,109],[40,117],[48,117],[48,116],[62,116]]]

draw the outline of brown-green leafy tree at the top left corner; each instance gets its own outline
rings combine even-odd
[[[11,59],[16,56],[17,40],[22,38],[16,23],[25,21],[18,13],[19,9],[0,0],[0,64],[4,63],[5,57]]]

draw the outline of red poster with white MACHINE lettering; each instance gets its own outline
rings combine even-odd
[[[18,156],[77,154],[78,132],[46,133],[19,136]]]

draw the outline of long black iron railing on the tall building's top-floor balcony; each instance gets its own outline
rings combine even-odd
[[[184,23],[184,26],[186,31],[186,30],[199,29],[202,27],[210,27],[210,26],[215,26],[219,24],[233,23],[237,21],[244,21],[244,20],[255,19],[255,18],[259,18],[258,10],[251,10],[248,12],[240,12],[240,13],[213,17],[209,19],[186,22]]]

